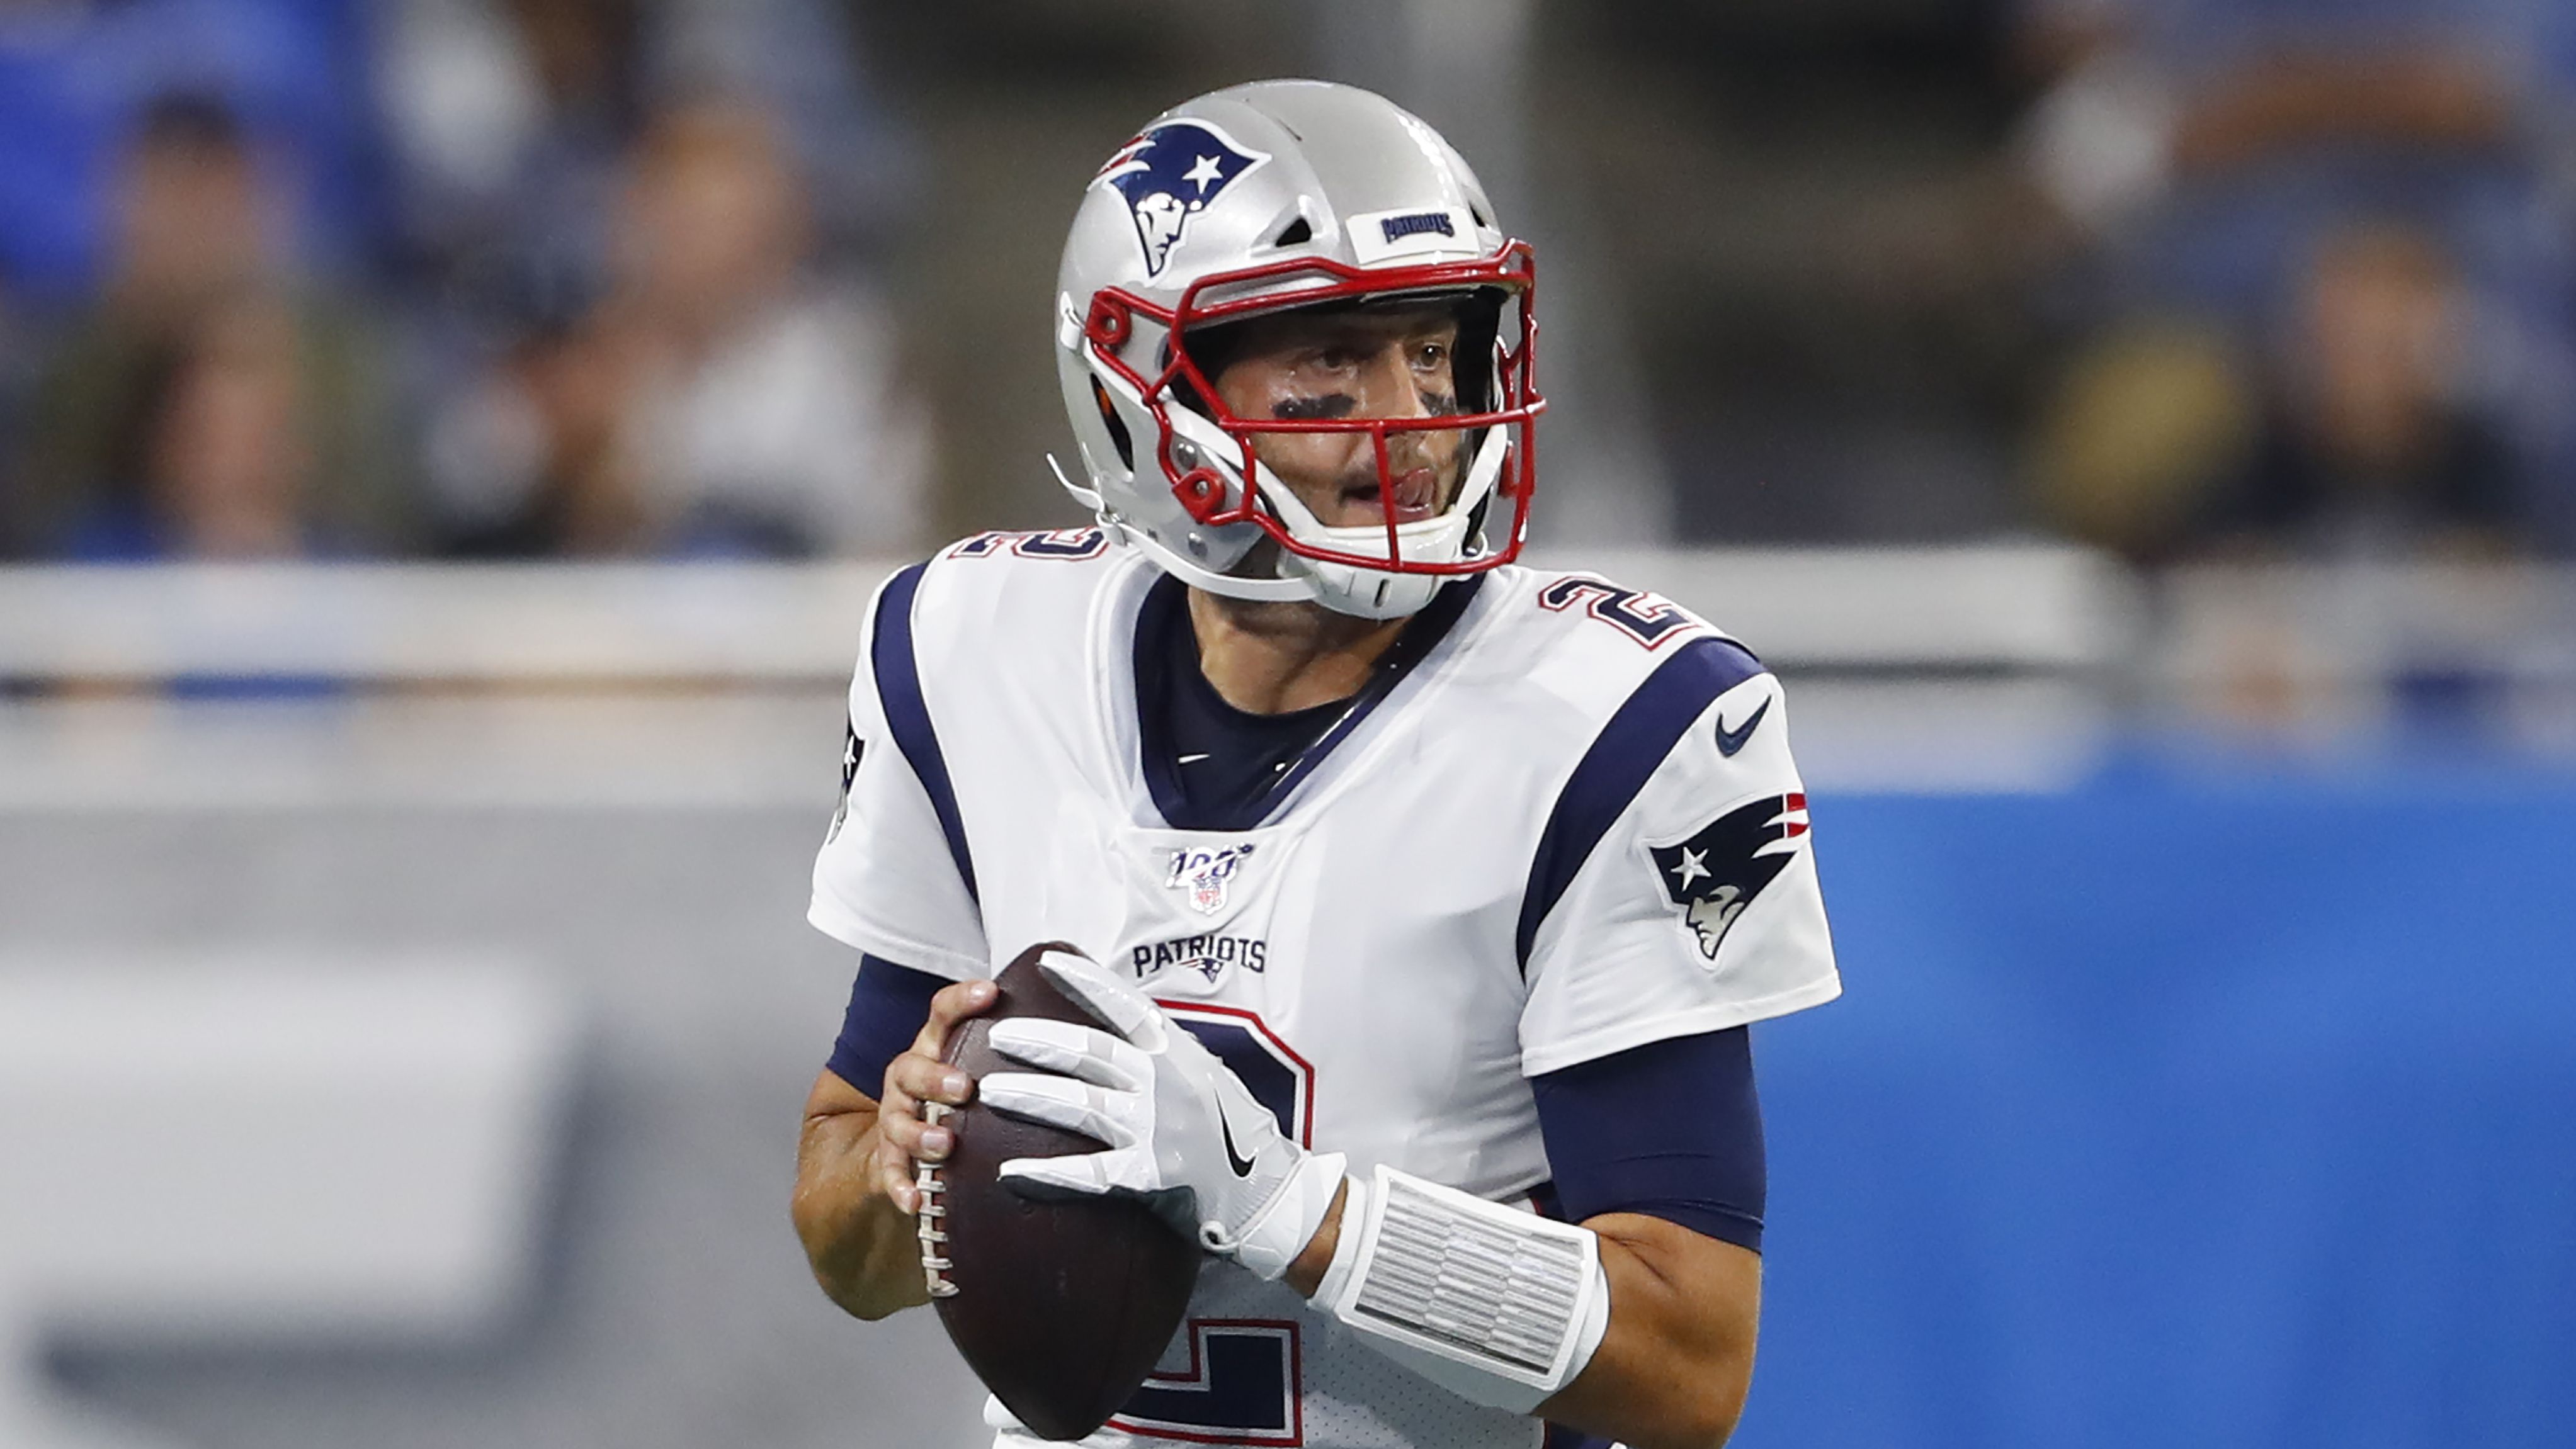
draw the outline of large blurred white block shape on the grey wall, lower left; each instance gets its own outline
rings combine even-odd
[[[52,1333],[489,1328],[572,1058],[569,1006],[495,963],[0,963],[0,1444],[95,1439],[36,1387]]]

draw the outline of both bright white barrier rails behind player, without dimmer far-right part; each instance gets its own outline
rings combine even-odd
[[[1533,551],[1656,589],[1798,685],[1816,785],[2056,788],[2099,736],[2136,584],[2066,546]],[[829,811],[840,692],[894,564],[0,569],[0,811],[796,806]],[[1989,672],[1991,677],[1958,677]],[[358,685],[250,700],[175,677]],[[108,685],[95,690],[93,685]],[[425,685],[417,687],[417,685]]]

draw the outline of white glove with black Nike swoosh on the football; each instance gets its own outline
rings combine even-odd
[[[1332,1210],[1342,1153],[1288,1140],[1242,1078],[1146,993],[1066,952],[1046,952],[1038,970],[1110,1032],[994,1022],[992,1050],[1061,1076],[997,1071],[976,1096],[1108,1150],[1012,1158],[1002,1179],[1033,1197],[1141,1197],[1206,1251],[1265,1279],[1285,1274]]]

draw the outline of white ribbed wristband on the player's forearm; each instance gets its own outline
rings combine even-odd
[[[1350,1184],[1314,1302],[1425,1380],[1510,1413],[1571,1385],[1610,1328],[1589,1228],[1386,1166]]]

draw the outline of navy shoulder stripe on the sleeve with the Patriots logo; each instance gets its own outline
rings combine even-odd
[[[1646,682],[1610,715],[1610,723],[1574,767],[1564,793],[1556,795],[1548,829],[1538,834],[1530,883],[1520,893],[1520,932],[1512,939],[1522,970],[1530,970],[1538,924],[1556,909],[1566,885],[1574,885],[1574,872],[1592,857],[1592,847],[1610,831],[1610,821],[1620,818],[1628,800],[1636,800],[1646,777],[1664,764],[1674,741],[1708,710],[1710,700],[1759,672],[1762,661],[1741,643],[1692,638],[1654,674],[1646,674]]]

